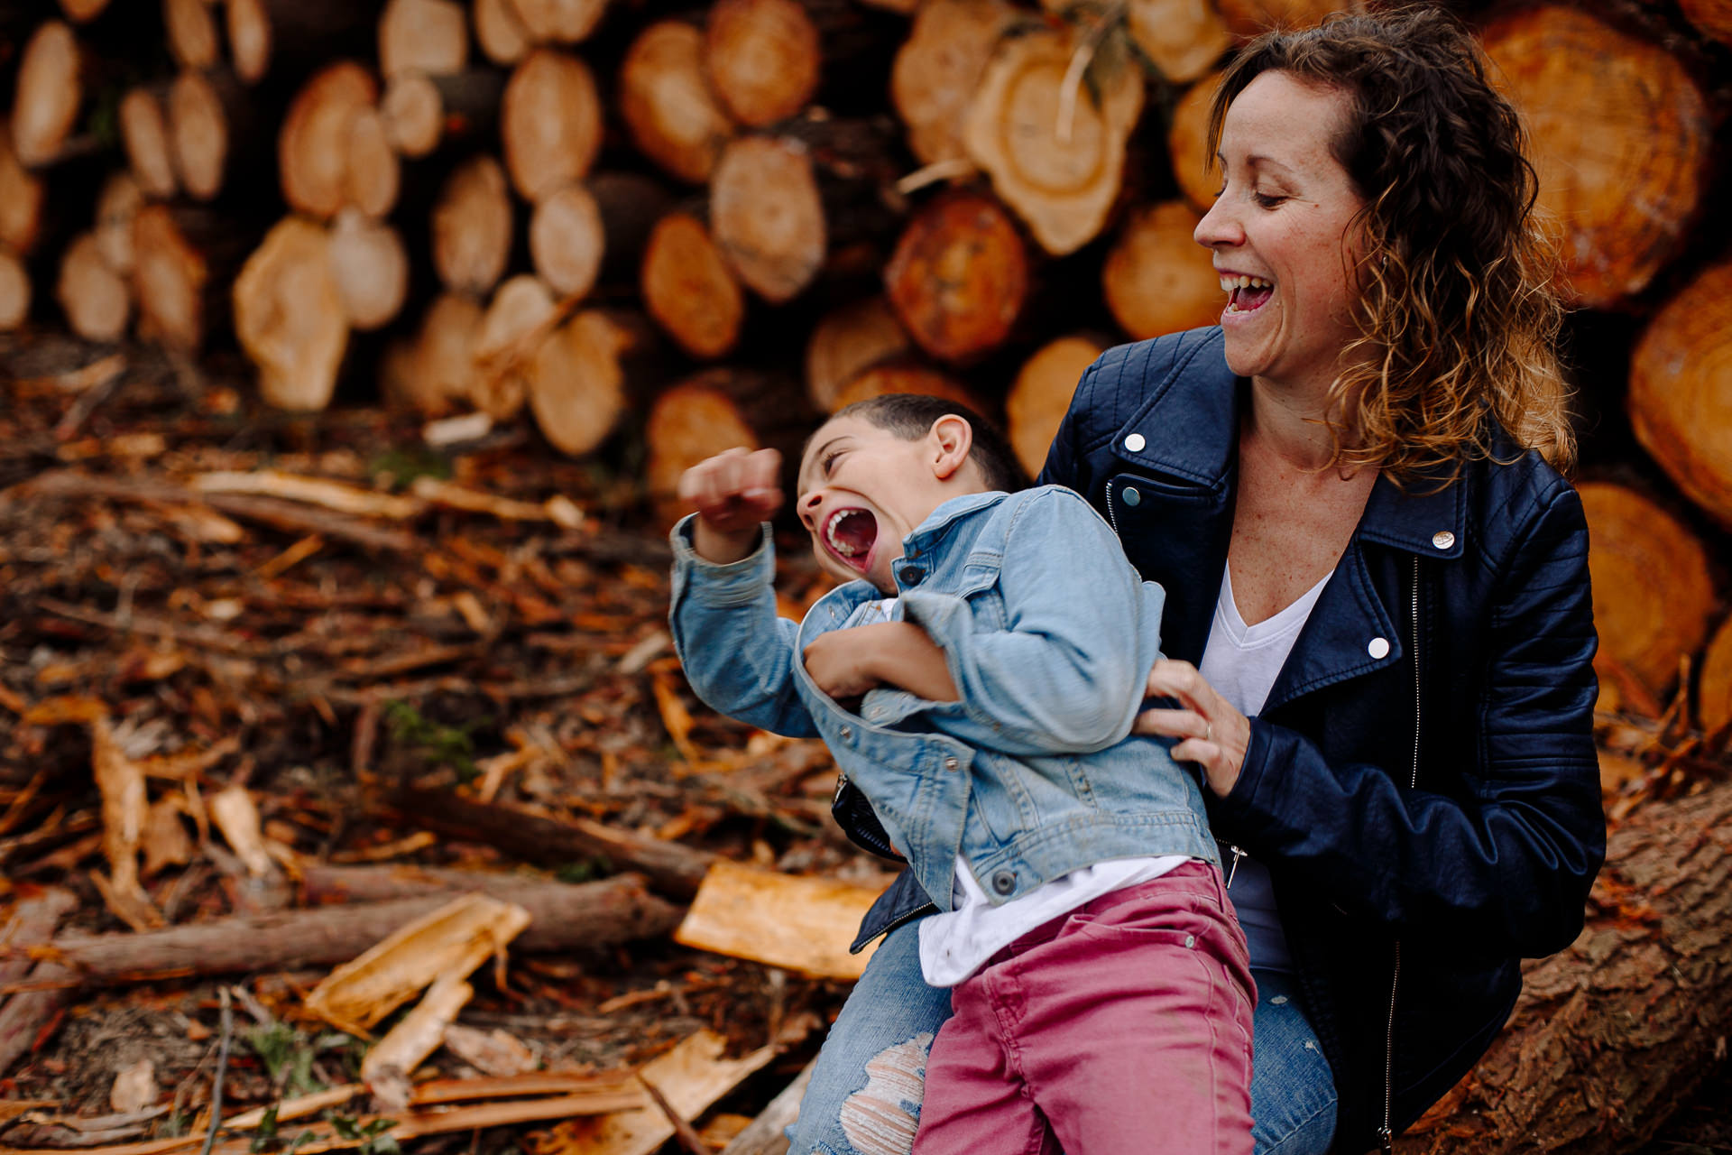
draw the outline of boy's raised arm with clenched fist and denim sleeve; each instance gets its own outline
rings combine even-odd
[[[693,466],[679,494],[698,513],[674,526],[669,625],[693,693],[778,734],[816,736],[795,693],[798,625],[776,615],[776,563],[762,525],[781,504],[776,450],[729,450]]]

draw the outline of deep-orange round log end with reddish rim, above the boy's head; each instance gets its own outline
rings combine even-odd
[[[883,281],[914,343],[963,364],[1010,338],[1029,296],[1029,253],[998,201],[951,192],[908,223]]]

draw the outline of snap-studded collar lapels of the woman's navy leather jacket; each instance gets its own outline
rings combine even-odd
[[[1145,343],[1147,358],[1155,343]],[[1136,379],[1136,367],[1126,367]],[[1173,358],[1148,398],[1112,435],[1112,452],[1134,469],[1176,474],[1209,488],[1228,488],[1238,461],[1238,412],[1249,383],[1226,367],[1219,329]],[[1131,448],[1136,445],[1136,448]],[[1406,490],[1377,478],[1360,518],[1358,539],[1424,558],[1458,558],[1467,526],[1467,487],[1446,471]]]

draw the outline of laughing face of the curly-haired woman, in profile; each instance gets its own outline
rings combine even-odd
[[[1328,147],[1347,100],[1263,73],[1226,109],[1223,187],[1195,236],[1228,293],[1226,364],[1240,376],[1327,386],[1360,334],[1349,268],[1363,201]]]

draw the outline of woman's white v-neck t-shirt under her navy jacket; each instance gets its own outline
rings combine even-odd
[[[1225,566],[1221,592],[1214,603],[1214,622],[1209,627],[1209,644],[1204,646],[1197,672],[1247,719],[1261,713],[1325,585],[1328,585],[1327,575],[1273,618],[1245,625],[1238,603],[1233,601],[1231,568]],[[1292,970],[1287,935],[1275,911],[1270,869],[1249,855],[1238,859],[1237,868],[1223,855],[1221,868],[1231,871],[1228,897],[1245,932],[1251,965],[1259,970]]]

